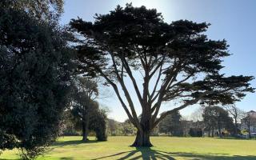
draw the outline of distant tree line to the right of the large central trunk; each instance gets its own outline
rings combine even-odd
[[[178,112],[170,114],[160,122],[159,134],[192,137],[236,137],[251,138],[250,127],[256,126],[256,116],[238,107],[203,106],[190,115],[182,118]],[[242,127],[244,126],[244,127]]]

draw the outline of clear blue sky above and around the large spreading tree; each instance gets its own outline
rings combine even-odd
[[[218,40],[225,38],[230,45],[230,57],[225,58],[222,73],[226,75],[256,76],[256,1],[254,0],[66,0],[62,24],[71,18],[83,18],[94,21],[94,14],[107,14],[118,4],[125,6],[132,2],[134,6],[156,8],[161,12],[165,22],[188,19],[194,22],[210,22],[206,32],[209,38]],[[252,82],[256,88],[256,80]],[[112,91],[109,89],[109,92]],[[100,100],[102,106],[111,110],[109,117],[124,121],[127,116],[122,110],[114,93],[109,98]],[[162,108],[168,109],[168,104]],[[248,94],[237,106],[242,110],[256,110],[256,94]],[[189,115],[198,106],[190,106],[181,111]],[[139,107],[137,108],[139,111]]]

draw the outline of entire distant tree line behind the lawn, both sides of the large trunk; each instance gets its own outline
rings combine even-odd
[[[235,111],[234,111],[235,110]],[[66,113],[68,113],[67,111]],[[231,114],[232,113],[232,114]],[[236,114],[234,114],[236,113]],[[82,125],[73,122],[72,116],[66,117],[63,135],[83,135]],[[244,127],[242,127],[242,125]],[[190,117],[183,116],[179,111],[169,114],[151,131],[154,136],[179,136],[179,137],[234,137],[251,138],[250,127],[256,127],[256,117],[246,113],[238,107],[232,106],[205,106],[200,107]],[[136,135],[137,128],[126,119],[118,122],[106,118],[106,134],[108,136]],[[96,135],[93,128],[88,134]]]

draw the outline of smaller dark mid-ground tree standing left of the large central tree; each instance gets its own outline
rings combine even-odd
[[[82,130],[82,140],[87,141],[90,130],[94,130],[98,141],[105,141],[106,114],[99,109],[98,102],[94,101],[98,96],[97,82],[78,76],[74,78],[72,88],[70,112],[75,126]]]

